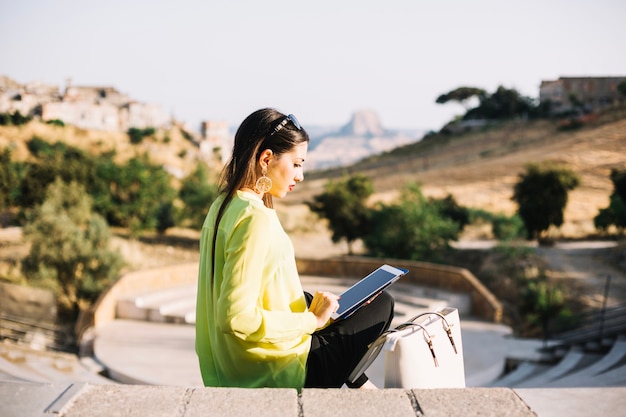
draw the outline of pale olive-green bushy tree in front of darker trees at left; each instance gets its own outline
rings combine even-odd
[[[57,179],[24,227],[31,249],[22,263],[29,280],[61,292],[61,301],[76,315],[117,276],[122,257],[109,249],[104,219],[93,213],[85,188]]]

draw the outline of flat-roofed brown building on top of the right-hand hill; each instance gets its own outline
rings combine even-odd
[[[551,102],[553,113],[574,110],[579,102],[585,108],[595,111],[624,100],[618,86],[626,82],[622,77],[560,77],[558,80],[542,81],[539,87],[539,101]]]

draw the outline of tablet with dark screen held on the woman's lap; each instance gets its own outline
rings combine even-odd
[[[407,272],[409,272],[407,269],[395,268],[386,264],[378,267],[374,272],[340,294],[339,309],[332,314],[331,318],[336,321],[350,316]]]

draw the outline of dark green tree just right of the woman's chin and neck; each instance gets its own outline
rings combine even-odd
[[[352,243],[369,229],[370,210],[366,200],[373,189],[368,177],[355,175],[327,182],[324,192],[307,203],[311,211],[328,220],[333,242],[346,241],[350,255],[353,253]]]

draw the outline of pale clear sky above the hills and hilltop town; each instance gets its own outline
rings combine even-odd
[[[438,129],[459,86],[626,75],[623,0],[0,0],[0,74],[112,86],[198,128],[260,107]]]

